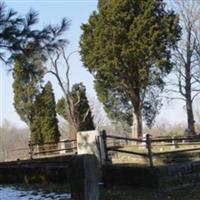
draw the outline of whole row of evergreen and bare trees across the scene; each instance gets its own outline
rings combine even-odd
[[[155,123],[166,88],[185,101],[188,133],[195,134],[192,105],[200,92],[200,5],[196,0],[174,3],[177,12],[163,0],[99,0],[81,26],[80,55],[94,77],[98,99],[109,118],[132,125],[133,137],[142,136],[143,121],[149,127]],[[62,38],[69,21],[33,30],[35,12],[23,18],[3,3],[0,9],[0,58],[14,63],[14,106],[30,127],[31,140],[58,141],[56,110],[68,121],[71,138],[77,131],[94,129],[85,86],[70,86],[67,40]],[[65,81],[59,59],[66,66]],[[44,85],[46,73],[56,77],[63,92],[57,108],[51,83]],[[168,88],[169,74],[174,77]]]

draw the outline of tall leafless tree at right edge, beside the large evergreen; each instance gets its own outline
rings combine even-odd
[[[175,3],[183,34],[174,52],[176,80],[168,91],[185,101],[188,131],[195,134],[192,104],[200,94],[200,4],[196,0],[177,0]]]

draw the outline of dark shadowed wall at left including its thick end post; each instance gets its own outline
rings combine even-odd
[[[97,158],[88,154],[0,163],[0,184],[65,183],[73,200],[99,200],[98,175]]]

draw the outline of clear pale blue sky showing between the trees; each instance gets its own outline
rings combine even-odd
[[[4,2],[8,8],[13,8],[20,15],[25,15],[30,8],[37,11],[39,23],[36,28],[42,28],[47,24],[57,24],[63,17],[69,19],[71,25],[64,35],[64,38],[69,41],[66,54],[79,49],[80,26],[87,22],[89,15],[97,7],[96,0],[7,0]],[[0,125],[8,120],[18,127],[23,127],[25,124],[20,120],[13,106],[12,73],[8,72],[8,67],[3,63],[0,63],[0,65],[2,65],[0,67]],[[62,93],[56,80],[50,75],[45,79],[52,81],[56,99],[60,98]],[[71,84],[83,82],[86,85],[87,94],[95,98],[93,78],[83,67],[78,52],[70,57],[70,81]],[[186,115],[183,110],[183,103],[180,101],[165,103],[157,121],[185,123]]]

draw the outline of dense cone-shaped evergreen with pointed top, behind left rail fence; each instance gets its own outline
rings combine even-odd
[[[55,97],[52,85],[48,82],[34,104],[31,141],[33,143],[58,142],[59,137]]]

